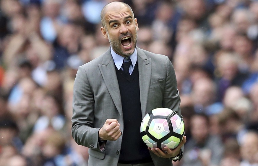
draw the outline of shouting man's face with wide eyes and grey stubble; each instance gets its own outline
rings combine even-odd
[[[106,9],[106,28],[101,31],[109,40],[114,52],[123,57],[134,53],[137,43],[137,19],[126,6]]]

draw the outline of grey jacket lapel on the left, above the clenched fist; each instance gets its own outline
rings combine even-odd
[[[108,92],[118,110],[119,114],[122,115],[122,103],[119,91],[119,85],[116,77],[115,64],[110,52],[110,49],[104,53],[102,64],[98,64],[100,73],[106,84]]]

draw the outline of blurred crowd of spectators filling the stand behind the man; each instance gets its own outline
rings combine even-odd
[[[87,166],[71,137],[73,82],[110,46],[100,31],[109,2],[0,0],[0,166]],[[187,142],[173,164],[257,166],[258,1],[123,2],[137,46],[175,68]]]

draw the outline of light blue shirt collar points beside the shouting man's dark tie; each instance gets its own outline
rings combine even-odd
[[[113,57],[114,63],[116,65],[116,68],[118,70],[120,70],[121,67],[122,67],[122,64],[124,62],[124,57],[122,57],[121,55],[118,55],[116,52],[114,52],[112,47],[111,47],[110,50],[111,50],[111,55]],[[132,61],[132,65],[133,65],[133,68],[134,68],[134,66],[135,66],[135,64],[137,62],[137,49],[136,48],[134,50],[134,53],[132,55],[130,55],[129,57],[130,57],[130,59]]]

